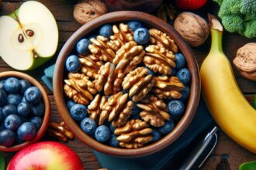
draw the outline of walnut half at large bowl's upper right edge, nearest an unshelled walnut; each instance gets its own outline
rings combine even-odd
[[[168,49],[174,53],[178,52],[178,46],[175,44],[175,41],[171,39],[166,33],[161,32],[158,29],[150,29],[150,42],[157,46],[164,46],[165,49]]]

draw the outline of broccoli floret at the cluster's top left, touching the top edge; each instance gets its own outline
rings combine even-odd
[[[218,15],[240,14],[241,0],[224,0],[220,6]]]

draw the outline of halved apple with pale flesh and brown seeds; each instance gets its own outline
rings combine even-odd
[[[18,12],[0,17],[0,26],[0,56],[17,70],[33,70],[57,50],[57,23],[40,2],[24,2]]]

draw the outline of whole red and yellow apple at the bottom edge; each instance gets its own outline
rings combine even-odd
[[[78,155],[66,145],[41,141],[19,151],[9,162],[7,170],[82,170]]]

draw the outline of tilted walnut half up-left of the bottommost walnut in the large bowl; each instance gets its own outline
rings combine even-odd
[[[102,112],[99,115],[99,125],[103,124],[108,117],[109,122],[113,121],[112,126],[114,127],[126,124],[133,110],[133,101],[128,99],[128,94],[122,92],[110,96],[102,107]]]

